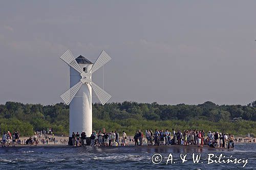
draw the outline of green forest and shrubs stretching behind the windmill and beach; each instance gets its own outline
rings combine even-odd
[[[34,131],[52,128],[54,134],[68,136],[69,106],[23,104],[6,102],[0,105],[0,134],[19,131],[23,136]],[[122,102],[102,106],[93,104],[93,129],[125,131],[132,135],[145,129],[198,129],[245,136],[256,136],[256,101],[247,106],[216,105],[160,105],[157,103]]]

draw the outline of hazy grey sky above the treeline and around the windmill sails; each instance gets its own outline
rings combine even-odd
[[[110,102],[256,100],[256,1],[1,1],[0,103],[63,102],[68,49],[101,50]],[[93,81],[103,86],[103,69]],[[93,102],[98,102],[93,97]]]

